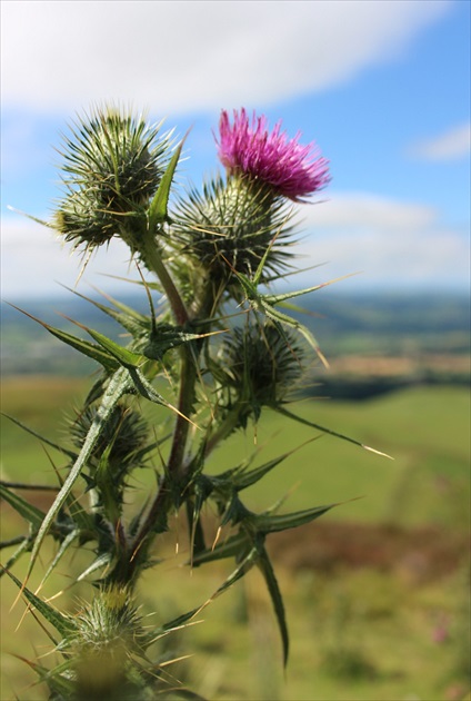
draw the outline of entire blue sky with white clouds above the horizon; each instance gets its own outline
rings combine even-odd
[[[1,3],[2,297],[64,294],[79,260],[51,231],[60,132],[112,100],[191,126],[179,182],[218,168],[221,108],[264,112],[330,160],[300,208],[299,277],[342,292],[469,288],[470,3],[465,0]],[[113,241],[79,288],[130,275]]]

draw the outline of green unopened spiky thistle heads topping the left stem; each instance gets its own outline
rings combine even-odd
[[[169,135],[159,140],[160,128],[107,108],[84,117],[64,137],[66,197],[52,224],[76,248],[93,249],[114,235],[132,238],[144,226],[168,162]]]

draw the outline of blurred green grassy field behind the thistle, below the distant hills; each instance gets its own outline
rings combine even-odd
[[[63,431],[59,407],[78,404],[88,384],[52,377],[7,378],[2,411],[58,440]],[[305,401],[291,408],[394,460],[323,436],[293,453],[253,487],[248,505],[261,510],[288,493],[283,511],[347,502],[323,517],[324,531],[321,521],[309,530],[292,531],[289,550],[319,550],[329,535],[329,524],[333,533],[333,526],[342,523],[337,541],[347,533],[350,550],[360,542],[363,531],[355,530],[360,525],[371,534],[372,540],[363,545],[369,557],[365,552],[352,566],[339,555],[338,564],[332,567],[331,559],[327,569],[321,560],[318,566],[301,556],[288,564],[280,555],[277,567],[278,550],[273,550],[292,641],[285,678],[270,603],[257,572],[208,606],[201,625],[168,641],[176,654],[196,651],[192,659],[176,665],[176,677],[188,680],[208,699],[221,701],[464,699],[470,671],[469,553],[463,547],[459,564],[443,570],[437,551],[435,560],[432,556],[424,569],[424,551],[414,543],[421,542],[415,537],[420,530],[428,529],[432,544],[437,534],[437,542],[452,549],[457,537],[465,539],[469,532],[468,391],[424,387],[362,403]],[[162,421],[159,412],[153,417]],[[294,450],[313,435],[312,428],[271,414],[258,427],[257,445],[252,430],[234,435],[214,454],[210,468],[218,472],[254,451],[260,451],[255,461],[262,462]],[[60,466],[59,454],[47,454],[36,438],[4,418],[2,445],[3,478],[53,482],[50,461]],[[152,475],[139,475],[137,498],[152,482]],[[349,501],[355,497],[361,498]],[[7,539],[18,533],[19,521],[7,507],[2,513],[2,537]],[[209,532],[211,527],[209,514]],[[380,566],[370,551],[384,552],[390,546],[388,527],[400,527],[408,546]],[[229,563],[196,570],[192,575],[181,569],[183,524],[179,533],[180,556],[174,555],[171,539],[162,542],[167,560],[141,585],[148,610],[162,620],[206,601],[230,572]],[[339,542],[335,552],[341,552]],[[66,588],[80,560],[87,561],[87,553],[80,553],[72,565],[64,564],[46,593]],[[24,565],[16,569],[18,576]],[[77,596],[87,594],[87,586],[70,590],[58,605],[74,606]],[[30,615],[14,633],[24,610],[18,604],[9,613],[14,595],[14,588],[2,580],[1,699],[13,699],[14,689],[22,701],[34,701],[44,698],[41,689],[29,688],[32,674],[10,653],[34,659],[49,649],[48,641]]]

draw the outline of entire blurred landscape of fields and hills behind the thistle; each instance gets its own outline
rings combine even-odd
[[[119,338],[111,319],[72,295],[22,307],[61,328],[71,327],[60,316],[66,315]],[[208,606],[202,624],[166,640],[169,655],[194,653],[169,668],[169,674],[221,701],[469,698],[469,299],[328,292],[311,296],[307,310],[331,367],[312,368],[293,411],[394,461],[323,436],[252,487],[249,505],[258,510],[284,495],[290,511],[345,502],[307,527],[269,540],[291,632],[285,675],[257,572]],[[64,414],[80,405],[93,365],[8,305],[2,306],[1,361],[3,413],[62,440]],[[158,407],[149,411],[159,424],[166,421]],[[57,484],[59,453],[44,451],[8,418],[2,417],[1,430],[3,480]],[[311,428],[268,413],[257,436],[252,428],[233,435],[214,453],[211,468],[230,467],[254,451],[255,461],[264,462],[312,435]],[[153,485],[153,474],[139,473],[136,498],[142,501]],[[46,509],[52,495],[40,492],[34,498]],[[7,504],[1,526],[2,540],[24,530]],[[163,552],[164,562],[142,584],[149,612],[162,620],[206,601],[230,572],[229,563],[192,573],[182,569],[187,533],[183,521],[177,526],[160,543],[158,556]],[[211,539],[211,513],[206,527]],[[82,552],[77,559],[87,556]],[[76,606],[89,586],[67,589],[79,564],[64,562],[48,583],[44,595],[64,590],[58,606]],[[24,565],[16,567],[17,576]],[[39,569],[38,581],[40,575]],[[31,687],[34,674],[14,655],[36,659],[50,644],[33,618],[23,618],[23,604],[9,611],[17,592],[4,579],[0,697],[42,699],[41,687]]]

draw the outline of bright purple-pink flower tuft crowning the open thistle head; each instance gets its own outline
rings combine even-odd
[[[267,117],[250,119],[242,108],[234,110],[233,125],[222,110],[219,120],[218,156],[230,174],[248,175],[294,201],[323,188],[330,181],[328,160],[320,157],[314,142],[299,144],[300,132],[293,139],[281,132],[281,120],[271,134]]]

